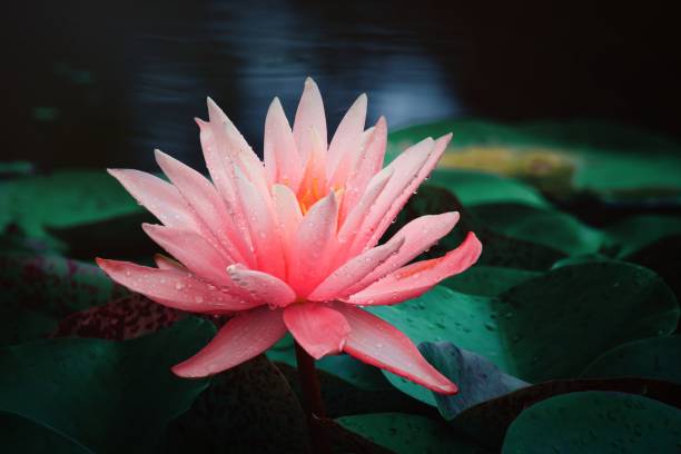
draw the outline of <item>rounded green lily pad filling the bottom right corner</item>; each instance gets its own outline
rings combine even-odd
[[[628,394],[572,393],[525,409],[506,434],[503,453],[673,453],[681,409]]]

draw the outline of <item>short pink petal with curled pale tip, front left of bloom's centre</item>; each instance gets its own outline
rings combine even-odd
[[[295,292],[273,275],[248,269],[243,265],[231,265],[227,273],[236,285],[270,307],[285,307],[296,300]]]

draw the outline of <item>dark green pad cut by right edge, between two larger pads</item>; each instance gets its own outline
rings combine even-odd
[[[591,363],[584,377],[645,377],[681,384],[681,336],[620,345]]]

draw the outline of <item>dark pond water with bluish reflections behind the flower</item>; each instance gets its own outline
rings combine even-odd
[[[393,128],[595,117],[679,136],[670,14],[542,4],[13,4],[2,160],[150,169],[159,147],[199,166],[193,117],[205,117],[207,95],[260,149],[269,101],[279,96],[293,116],[306,76],[333,127],[366,91],[369,120],[385,115]]]

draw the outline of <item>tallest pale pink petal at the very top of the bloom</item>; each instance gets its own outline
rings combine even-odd
[[[310,139],[314,137],[314,134],[310,132],[317,135],[326,152],[328,140],[326,138],[324,102],[322,101],[319,88],[315,81],[308,77],[305,80],[305,88],[303,89],[303,96],[298,103],[298,110],[296,110],[296,119],[293,129],[296,147],[303,158],[303,162],[307,161],[310,151],[315,147],[315,144],[310,142]]]

